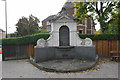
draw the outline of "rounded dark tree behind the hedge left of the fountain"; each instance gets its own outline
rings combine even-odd
[[[39,19],[33,15],[30,15],[29,18],[20,18],[16,24],[18,36],[25,36],[36,33],[39,29],[39,22]]]

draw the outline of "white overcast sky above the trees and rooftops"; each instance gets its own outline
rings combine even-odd
[[[16,31],[15,24],[22,16],[29,17],[32,14],[42,21],[50,15],[57,14],[65,2],[66,0],[7,0],[8,33]],[[2,0],[0,0],[0,28],[6,30],[5,2]]]

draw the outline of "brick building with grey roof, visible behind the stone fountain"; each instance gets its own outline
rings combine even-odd
[[[62,7],[60,12],[64,11],[70,16],[73,16],[76,13],[77,8],[74,7],[72,2],[66,2]],[[59,13],[60,13],[59,12]],[[42,29],[46,29],[47,31],[51,31],[51,23],[49,20],[53,19],[56,15],[51,15],[42,21]],[[91,18],[85,18],[80,21],[80,24],[77,25],[77,32],[81,34],[95,34],[95,26],[92,24]]]

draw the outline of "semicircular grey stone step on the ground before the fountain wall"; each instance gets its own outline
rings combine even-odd
[[[79,72],[91,69],[96,61],[79,59],[57,59],[35,63],[30,61],[38,69],[48,72]]]

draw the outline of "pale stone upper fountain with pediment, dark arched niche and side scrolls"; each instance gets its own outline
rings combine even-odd
[[[92,46],[90,38],[81,39],[77,34],[77,19],[64,11],[53,16],[51,22],[51,34],[47,40],[39,39],[37,46],[59,47],[64,46]],[[66,46],[65,45],[65,46]]]

